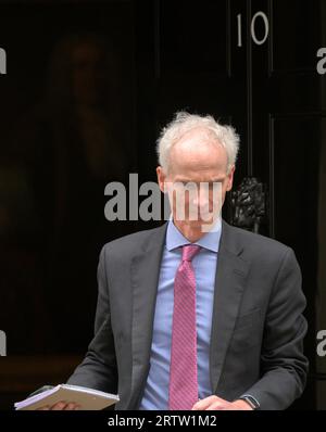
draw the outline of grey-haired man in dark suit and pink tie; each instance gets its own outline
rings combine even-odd
[[[68,383],[117,392],[116,409],[284,409],[301,395],[294,254],[220,217],[238,147],[210,116],[179,113],[163,130],[156,173],[173,217],[102,249],[95,338]],[[199,189],[186,192],[179,218],[173,187],[189,182]]]

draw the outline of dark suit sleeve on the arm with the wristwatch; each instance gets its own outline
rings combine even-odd
[[[303,392],[309,366],[303,354],[308,328],[304,308],[301,271],[293,251],[288,249],[269,298],[261,379],[246,392],[259,401],[261,409],[285,409]]]

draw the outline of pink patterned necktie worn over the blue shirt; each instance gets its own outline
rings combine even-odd
[[[191,259],[200,249],[195,244],[183,246],[174,281],[170,409],[191,409],[198,401],[196,278]]]

